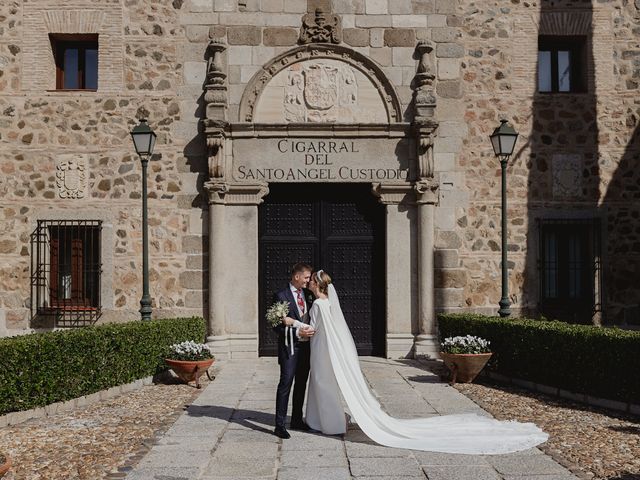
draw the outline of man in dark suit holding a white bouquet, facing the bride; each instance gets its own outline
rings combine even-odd
[[[312,268],[306,263],[296,263],[291,269],[289,285],[277,292],[273,301],[288,302],[288,317],[309,323],[309,308],[313,304],[313,294],[306,289],[311,278]],[[289,393],[293,387],[293,409],[291,411],[291,428],[293,430],[309,430],[302,420],[302,404],[309,378],[310,350],[309,338],[313,329],[286,327],[284,323],[273,327],[278,334],[278,364],[280,365],[280,382],[276,394],[276,428],[274,434],[280,438],[291,438],[285,428]]]

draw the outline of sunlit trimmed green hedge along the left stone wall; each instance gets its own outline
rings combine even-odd
[[[183,318],[0,338],[0,415],[154,375],[169,345],[205,334],[202,318]]]

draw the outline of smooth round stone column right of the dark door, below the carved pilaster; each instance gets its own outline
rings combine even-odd
[[[415,354],[437,358],[440,351],[434,302],[434,215],[438,183],[433,179],[416,182],[418,204],[418,328]]]

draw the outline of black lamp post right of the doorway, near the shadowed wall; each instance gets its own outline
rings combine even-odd
[[[498,313],[501,317],[511,315],[511,302],[509,301],[509,268],[507,266],[507,162],[513,153],[518,133],[506,120],[500,120],[500,126],[491,136],[491,145],[496,157],[500,159],[502,169],[502,298]]]

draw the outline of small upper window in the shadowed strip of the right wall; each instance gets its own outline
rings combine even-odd
[[[538,91],[572,93],[586,91],[586,37],[538,37]]]

